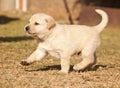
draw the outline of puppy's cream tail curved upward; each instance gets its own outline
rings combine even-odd
[[[102,16],[102,21],[98,25],[94,26],[94,28],[96,28],[100,33],[108,23],[108,15],[105,11],[100,9],[96,9],[95,11]]]

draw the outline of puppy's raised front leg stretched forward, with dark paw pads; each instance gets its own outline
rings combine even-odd
[[[36,49],[26,60],[22,60],[21,64],[28,66],[35,61],[41,60],[45,55],[46,51],[44,49]]]

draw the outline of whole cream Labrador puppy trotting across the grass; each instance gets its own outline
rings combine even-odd
[[[100,9],[95,10],[102,16],[102,21],[96,26],[61,25],[51,16],[40,13],[33,15],[25,26],[26,33],[39,41],[37,49],[22,65],[30,65],[39,61],[47,54],[60,58],[60,73],[68,73],[70,58],[81,52],[83,60],[74,65],[73,69],[82,71],[96,63],[95,51],[100,45],[100,32],[108,23],[108,15]]]

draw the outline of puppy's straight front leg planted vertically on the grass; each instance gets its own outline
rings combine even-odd
[[[70,56],[63,55],[61,56],[61,70],[59,73],[67,74],[70,69]]]

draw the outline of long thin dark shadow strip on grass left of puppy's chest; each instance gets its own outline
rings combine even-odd
[[[0,42],[18,42],[24,40],[32,40],[31,37],[18,36],[18,37],[0,37]]]

